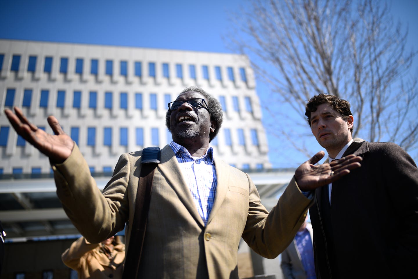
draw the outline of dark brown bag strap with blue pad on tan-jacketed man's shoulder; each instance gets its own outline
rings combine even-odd
[[[150,209],[154,171],[160,163],[160,148],[146,147],[141,156],[141,174],[136,192],[135,212],[129,239],[129,248],[125,258],[122,279],[138,278],[139,261],[147,227]]]

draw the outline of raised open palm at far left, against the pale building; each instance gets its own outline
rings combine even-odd
[[[7,118],[15,131],[28,143],[49,157],[53,163],[62,163],[67,159],[74,147],[74,141],[62,131],[58,120],[54,116],[48,116],[48,124],[55,135],[50,135],[28,121],[22,111],[14,107],[15,113],[6,108]]]

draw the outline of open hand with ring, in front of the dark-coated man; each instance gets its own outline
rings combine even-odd
[[[331,163],[315,165],[324,157],[324,151],[319,151],[311,159],[301,164],[295,172],[295,179],[302,191],[314,190],[336,181],[340,177],[349,174],[350,169],[361,166],[362,157],[354,154],[345,156]]]

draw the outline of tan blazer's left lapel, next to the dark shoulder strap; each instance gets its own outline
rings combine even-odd
[[[179,200],[187,210],[189,210],[190,215],[204,227],[203,220],[197,211],[189,186],[187,186],[186,180],[181,174],[176,155],[169,145],[161,149],[161,163],[158,164],[158,170],[167,179],[168,184],[174,189]]]

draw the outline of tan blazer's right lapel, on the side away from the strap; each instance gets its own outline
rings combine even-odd
[[[214,218],[214,216],[219,211],[219,208],[221,208],[222,202],[224,202],[224,199],[228,192],[228,180],[229,180],[229,171],[228,165],[218,159],[214,159],[215,162],[215,170],[216,170],[216,176],[217,176],[217,187],[216,187],[216,194],[215,194],[215,200],[213,203],[212,210],[209,215],[208,224],[211,222],[211,220]]]

